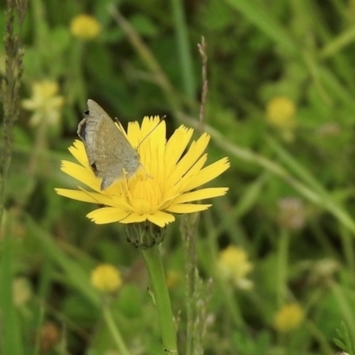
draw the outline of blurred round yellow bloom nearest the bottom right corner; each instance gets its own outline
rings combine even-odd
[[[304,320],[304,312],[298,304],[285,304],[275,315],[275,327],[286,333],[298,327]]]

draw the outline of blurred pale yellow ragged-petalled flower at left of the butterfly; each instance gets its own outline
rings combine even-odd
[[[45,120],[51,125],[58,125],[60,108],[64,104],[64,98],[57,95],[58,83],[44,80],[34,83],[32,86],[32,98],[22,100],[22,107],[34,111],[30,123],[34,126]]]

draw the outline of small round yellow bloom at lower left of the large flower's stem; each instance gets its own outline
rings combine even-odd
[[[122,286],[121,272],[111,264],[101,264],[91,272],[91,285],[102,293],[112,293]]]

